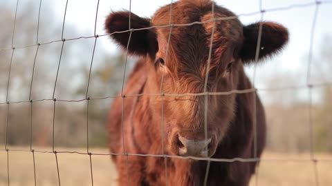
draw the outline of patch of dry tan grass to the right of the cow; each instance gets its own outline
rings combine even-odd
[[[318,184],[332,185],[332,155],[317,154]],[[250,186],[313,186],[315,185],[315,165],[310,154],[265,153],[258,169],[258,180],[252,177]],[[256,184],[258,181],[258,184]]]

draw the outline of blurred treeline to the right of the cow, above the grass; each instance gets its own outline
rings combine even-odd
[[[313,105],[309,105],[308,89],[286,89],[268,92],[266,116],[268,124],[267,147],[270,150],[285,152],[308,152],[309,109],[313,116],[313,146],[316,151],[332,152],[332,37],[324,37],[317,56],[313,56],[310,82]],[[306,58],[307,59],[307,56]],[[305,77],[306,66],[299,69],[305,72],[284,73],[267,81],[269,88],[284,87],[284,82],[297,85],[299,77]],[[323,86],[320,86],[323,85]],[[305,86],[305,85],[304,85]]]

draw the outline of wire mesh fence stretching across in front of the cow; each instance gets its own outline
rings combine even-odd
[[[173,1],[171,1],[170,3],[172,3]],[[70,3],[70,2],[69,2]],[[70,38],[70,39],[65,39],[64,38],[64,27],[65,27],[65,21],[66,21],[66,11],[67,11],[67,6],[68,6],[68,0],[66,1],[66,7],[65,7],[65,11],[64,11],[64,16],[63,16],[63,23],[62,23],[62,39],[60,40],[55,40],[55,41],[48,41],[46,43],[39,43],[39,18],[42,16],[41,15],[41,8],[42,8],[42,0],[40,0],[39,2],[39,13],[38,13],[38,23],[37,23],[37,32],[36,32],[36,42],[32,45],[22,45],[22,46],[15,46],[14,45],[14,36],[15,36],[15,26],[16,26],[16,20],[17,20],[17,9],[19,7],[19,0],[17,0],[16,3],[16,8],[15,8],[15,20],[14,20],[14,26],[12,29],[12,43],[10,47],[7,48],[0,48],[0,52],[1,51],[6,51],[6,50],[12,50],[11,52],[11,57],[10,57],[10,61],[9,61],[9,68],[8,68],[8,81],[7,81],[7,90],[6,90],[6,102],[0,103],[0,105],[7,105],[7,118],[6,118],[6,132],[5,132],[5,145],[4,145],[4,149],[0,149],[0,151],[6,152],[6,156],[7,156],[7,179],[8,179],[8,185],[10,185],[10,152],[31,152],[31,154],[33,154],[33,159],[31,161],[33,161],[33,172],[34,172],[34,180],[35,180],[35,185],[37,185],[36,182],[36,169],[35,169],[35,153],[44,153],[44,154],[54,154],[55,156],[55,163],[57,166],[57,178],[58,178],[58,184],[61,185],[61,172],[59,172],[59,163],[58,163],[58,159],[57,159],[57,154],[82,154],[82,155],[86,155],[89,156],[89,164],[90,164],[90,172],[91,172],[91,185],[93,185],[93,156],[110,156],[110,155],[115,155],[115,156],[126,156],[127,157],[127,165],[128,165],[128,156],[142,156],[142,157],[147,157],[147,156],[153,156],[153,157],[160,157],[160,158],[164,158],[165,159],[165,176],[167,178],[167,159],[168,158],[181,158],[181,159],[194,159],[194,160],[201,160],[201,161],[208,161],[208,167],[206,168],[206,173],[205,173],[205,181],[204,181],[204,185],[207,184],[207,178],[208,178],[208,170],[209,170],[209,166],[210,166],[210,162],[235,162],[235,161],[239,161],[239,162],[259,162],[259,161],[299,161],[299,162],[303,162],[303,161],[311,161],[313,163],[313,174],[315,176],[315,185],[320,185],[319,183],[319,178],[318,178],[318,173],[317,173],[317,162],[332,162],[332,159],[329,158],[320,158],[317,159],[315,157],[314,154],[314,147],[313,147],[313,118],[312,118],[312,110],[313,110],[313,101],[312,101],[312,90],[313,87],[322,87],[322,86],[329,86],[332,85],[331,83],[319,83],[319,84],[313,84],[310,82],[311,79],[311,63],[313,61],[312,56],[313,56],[313,39],[315,37],[315,27],[316,27],[316,22],[317,22],[317,14],[319,12],[319,8],[320,6],[323,6],[324,4],[329,4],[332,3],[332,1],[313,1],[310,3],[301,3],[301,4],[293,4],[291,6],[284,6],[284,7],[279,7],[279,8],[270,8],[270,9],[263,9],[261,6],[261,0],[259,0],[259,11],[257,12],[250,12],[250,13],[246,13],[246,14],[239,14],[236,17],[223,17],[223,18],[216,18],[216,17],[212,17],[212,19],[208,20],[208,21],[196,21],[193,23],[187,23],[187,24],[176,24],[176,23],[172,23],[172,6],[170,6],[170,11],[169,11],[169,24],[167,25],[160,25],[160,26],[151,26],[148,28],[139,28],[139,29],[133,29],[131,28],[131,23],[129,21],[129,30],[125,30],[122,32],[113,32],[110,34],[97,34],[96,33],[96,26],[97,26],[97,17],[98,17],[98,9],[99,9],[99,0],[97,2],[97,6],[95,8],[95,25],[94,25],[94,34],[93,36],[89,36],[89,37],[77,37],[77,38]],[[257,89],[255,88],[255,73],[256,73],[256,67],[254,67],[254,74],[253,74],[253,81],[252,81],[252,87],[250,89],[246,89],[246,90],[231,90],[228,92],[208,92],[207,91],[207,84],[208,84],[208,71],[206,74],[206,79],[205,79],[205,85],[204,85],[204,92],[200,92],[200,93],[185,93],[185,94],[167,94],[164,93],[162,90],[162,86],[163,86],[163,79],[162,79],[162,83],[161,83],[161,87],[160,87],[160,92],[157,93],[149,93],[149,94],[123,94],[123,88],[124,88],[124,77],[126,75],[126,69],[127,69],[127,53],[128,53],[128,47],[129,47],[129,42],[131,39],[131,33],[134,31],[138,31],[138,30],[149,30],[152,28],[170,28],[170,32],[169,32],[169,37],[168,37],[168,41],[167,41],[167,49],[166,49],[166,55],[167,56],[167,52],[168,52],[168,48],[169,48],[169,43],[170,43],[170,38],[172,37],[172,28],[174,27],[183,27],[183,26],[189,26],[189,25],[194,25],[194,24],[203,24],[203,23],[208,23],[208,22],[213,22],[215,23],[216,21],[223,21],[223,20],[229,20],[229,19],[238,19],[239,17],[248,17],[251,15],[257,15],[259,14],[261,17],[261,21],[264,20],[264,14],[266,12],[277,12],[277,11],[282,11],[282,10],[289,10],[289,9],[293,9],[293,8],[305,8],[305,7],[315,7],[315,12],[313,14],[313,23],[312,23],[312,27],[311,27],[311,37],[310,37],[310,45],[309,47],[309,55],[308,55],[308,62],[307,62],[307,76],[306,76],[306,85],[298,85],[298,86],[290,86],[290,87],[275,87],[275,88],[267,88],[267,89]],[[212,15],[214,15],[214,3],[212,3]],[[131,12],[131,1],[130,1],[130,6],[129,6],[129,12]],[[129,14],[130,17],[130,14]],[[129,19],[130,20],[130,19]],[[256,54],[255,54],[255,61],[258,61],[258,56],[259,56],[259,49],[260,49],[260,42],[261,42],[261,25],[259,26],[259,37],[257,39],[257,49],[256,49]],[[213,31],[214,31],[214,24],[213,24],[213,28],[212,28],[212,36],[213,36]],[[129,33],[129,41],[127,44],[127,49],[125,52],[125,60],[124,60],[124,72],[123,72],[123,81],[122,81],[122,93],[120,95],[109,95],[109,96],[104,96],[104,97],[90,97],[89,96],[89,85],[90,85],[90,79],[91,79],[91,69],[93,68],[93,59],[95,56],[95,46],[96,43],[98,43],[98,39],[100,37],[109,37],[110,35],[116,34],[116,33],[124,33],[124,32],[128,32]],[[211,59],[211,55],[212,55],[212,42],[213,42],[213,37],[211,36],[211,40],[210,40],[210,50],[209,50],[209,55],[208,55],[208,66],[210,65],[210,59]],[[78,100],[66,100],[66,99],[57,99],[55,97],[55,90],[57,89],[57,79],[58,79],[58,74],[59,74],[59,68],[62,65],[62,53],[63,53],[63,49],[64,49],[64,45],[66,44],[66,41],[74,41],[74,40],[78,40],[78,39],[92,39],[94,38],[94,45],[93,45],[93,52],[92,52],[92,56],[91,56],[91,63],[90,63],[90,68],[89,68],[89,80],[88,83],[86,84],[86,94],[85,94],[85,98],[84,99],[78,99]],[[57,64],[57,75],[55,78],[55,82],[54,82],[54,88],[53,88],[53,96],[52,99],[31,99],[31,90],[33,87],[33,81],[34,81],[34,73],[35,73],[35,63],[36,63],[36,59],[37,59],[37,55],[39,52],[39,46],[40,45],[50,45],[52,43],[62,43],[62,48],[61,48],[61,52],[59,54],[59,61]],[[9,95],[9,87],[10,87],[10,78],[11,78],[11,71],[12,71],[12,59],[13,56],[15,56],[15,51],[22,49],[22,48],[36,48],[36,52],[35,52],[35,59],[33,61],[33,69],[31,71],[31,80],[30,80],[30,92],[29,92],[29,97],[28,100],[21,100],[21,101],[10,101],[8,95]],[[167,63],[167,59],[165,59],[165,63]],[[165,71],[165,70],[164,70]],[[164,76],[165,72],[163,72],[163,76]],[[307,89],[308,90],[308,99],[309,99],[309,105],[310,107],[308,108],[308,129],[309,129],[309,138],[308,141],[310,143],[310,158],[259,158],[257,156],[257,121],[256,121],[256,104],[252,105],[254,107],[254,112],[253,112],[253,118],[254,119],[254,131],[255,131],[255,140],[254,140],[254,156],[252,158],[238,158],[238,157],[234,157],[234,158],[199,158],[199,157],[194,157],[194,156],[173,156],[173,155],[168,155],[165,154],[165,147],[164,147],[164,143],[163,141],[165,140],[165,135],[161,134],[162,136],[162,142],[161,145],[162,147],[162,154],[132,154],[132,153],[127,153],[125,147],[124,147],[124,139],[123,139],[123,135],[122,135],[122,146],[123,146],[123,150],[124,153],[95,153],[95,152],[91,152],[90,148],[89,148],[89,103],[90,101],[93,100],[102,100],[102,99],[114,99],[114,98],[122,98],[122,133],[123,131],[123,117],[124,117],[124,110],[123,110],[123,102],[124,99],[126,99],[127,97],[130,96],[205,96],[205,98],[208,98],[208,95],[229,95],[229,94],[247,94],[250,92],[257,92],[257,91],[284,91],[284,90],[298,90],[298,89]],[[255,96],[254,96],[255,97]],[[163,99],[162,99],[163,100]],[[40,151],[40,150],[36,150],[33,148],[33,104],[37,103],[37,102],[44,102],[44,101],[49,101],[53,103],[53,136],[52,136],[52,151]],[[56,107],[57,107],[57,103],[58,102],[85,102],[86,103],[86,152],[75,152],[75,151],[57,151],[57,149],[55,148],[55,115],[56,115]],[[10,149],[8,148],[8,117],[10,114],[10,106],[13,104],[20,104],[20,103],[30,103],[30,149],[26,150],[26,149]],[[256,101],[254,101],[254,103],[256,103]],[[205,99],[205,138],[207,136],[207,110],[208,110],[208,101],[207,99]],[[161,112],[161,116],[162,116],[162,120],[160,121],[160,127],[163,129],[165,128],[164,126],[164,119],[163,119],[163,101],[162,101],[162,112]],[[27,121],[28,122],[28,121]],[[257,167],[256,169],[256,185],[258,184],[258,169],[259,167]],[[129,170],[128,170],[128,166],[127,166],[127,180],[128,180],[128,184],[129,184],[129,179],[130,179],[130,175],[129,175]]]

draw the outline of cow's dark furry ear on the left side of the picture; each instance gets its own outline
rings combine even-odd
[[[138,17],[130,13],[132,29],[149,28],[150,20]],[[112,12],[105,21],[105,29],[122,48],[126,49],[129,41],[129,12]],[[120,33],[117,33],[120,32]],[[134,30],[131,32],[128,52],[137,55],[155,55],[158,51],[158,43],[154,29]]]

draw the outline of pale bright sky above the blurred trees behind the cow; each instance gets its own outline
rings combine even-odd
[[[39,1],[35,0],[20,0],[20,5],[26,3],[37,3]],[[43,11],[43,6],[46,4],[50,5],[53,10],[55,10],[55,17],[57,21],[62,22],[64,19],[64,12],[66,8],[67,0],[43,0],[41,17],[46,19],[46,10]],[[140,17],[151,17],[154,12],[170,3],[170,0],[100,0],[98,6],[98,17],[97,24],[95,25],[95,14],[97,10],[98,0],[68,0],[68,6],[66,9],[66,20],[64,24],[64,38],[77,38],[82,35],[73,35],[66,29],[66,24],[70,23],[75,25],[75,34],[84,34],[83,36],[93,36],[94,29],[96,28],[96,34],[106,34],[104,30],[104,20],[111,11],[118,10],[129,10],[129,5],[131,5],[131,12],[139,15]],[[308,72],[308,53],[310,50],[311,42],[311,32],[313,28],[313,18],[315,14],[315,4],[311,6],[306,6],[309,3],[314,3],[313,0],[232,0],[232,1],[221,1],[216,0],[219,6],[228,8],[235,14],[240,15],[239,19],[244,25],[250,23],[255,23],[261,19],[261,14],[251,14],[252,12],[259,12],[259,4],[261,3],[261,9],[266,10],[263,14],[264,21],[274,21],[281,23],[286,28],[290,34],[288,45],[280,53],[274,56],[272,59],[268,59],[265,63],[260,63],[254,67],[246,68],[248,76],[252,78],[257,87],[288,87],[295,85],[306,85],[306,73]],[[313,34],[313,60],[311,61],[311,73],[320,74],[324,76],[324,81],[332,81],[331,76],[329,76],[329,71],[324,69],[322,61],[317,61],[320,59],[320,50],[322,48],[322,43],[324,43],[324,38],[329,35],[332,36],[332,1],[325,0],[318,6],[317,9],[317,19],[315,21],[314,34]],[[16,1],[9,1],[10,6],[15,10]],[[24,8],[24,6],[19,6],[19,10]],[[276,10],[279,9],[280,10]],[[19,11],[18,10],[18,11]],[[275,10],[275,11],[270,11]],[[34,16],[37,16],[37,12],[33,12]],[[57,36],[59,39],[59,36]],[[98,41],[104,45],[104,48],[114,54],[119,52],[118,47],[112,43],[109,37],[101,37]],[[331,61],[329,61],[331,62]],[[331,67],[331,65],[330,65]],[[255,70],[255,79],[254,77]],[[325,73],[325,75],[324,75]],[[292,81],[285,81],[278,85],[267,85],[266,79],[273,76],[292,76]],[[321,83],[321,82],[320,82]]]

